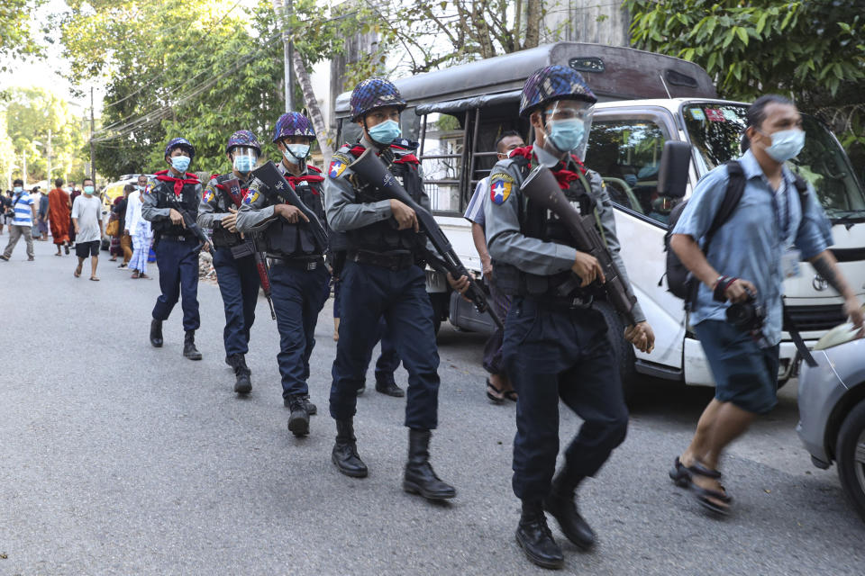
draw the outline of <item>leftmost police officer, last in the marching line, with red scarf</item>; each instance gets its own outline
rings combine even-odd
[[[175,138],[165,147],[165,161],[170,166],[155,174],[156,183],[149,186],[141,206],[141,217],[150,220],[153,229],[153,251],[159,266],[159,288],[162,293],[153,307],[150,322],[150,344],[162,346],[162,321],[183,296],[183,356],[201,360],[196,348],[198,315],[198,239],[187,230],[181,212],[195,218],[201,199],[201,182],[187,168],[196,157],[196,148],[187,139]],[[201,247],[207,249],[207,246]],[[199,248],[199,249],[201,249]]]

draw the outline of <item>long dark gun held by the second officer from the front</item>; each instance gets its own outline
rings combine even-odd
[[[469,279],[469,290],[466,291],[464,296],[474,303],[478,312],[481,314],[485,312],[488,313],[489,317],[493,319],[493,322],[496,323],[498,328],[505,328],[505,325],[502,324],[502,320],[496,316],[496,312],[493,311],[489,302],[487,302],[487,293],[485,293],[483,289],[478,286],[478,283],[475,282],[474,278],[469,275],[466,266],[463,266],[460,257],[457,256],[457,253],[451,246],[448,237],[444,235],[444,232],[439,228],[438,223],[432,218],[432,214],[423,208],[423,206],[414,202],[412,197],[405,192],[405,188],[396,181],[396,178],[390,173],[390,170],[387,169],[387,166],[381,161],[381,158],[376,156],[372,148],[367,148],[367,150],[361,154],[357,160],[352,162],[349,167],[352,172],[360,175],[361,178],[375,186],[387,197],[403,202],[406,206],[414,210],[414,213],[417,214],[417,220],[421,224],[423,234],[425,234],[427,238],[430,238],[432,246],[435,247],[436,252],[441,256],[436,257],[427,252],[430,265],[440,271],[450,272],[451,276],[455,279],[460,278],[460,276],[466,276]]]

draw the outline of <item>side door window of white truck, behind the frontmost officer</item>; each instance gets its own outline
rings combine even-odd
[[[673,199],[658,194],[658,168],[669,131],[648,119],[596,119],[588,136],[586,166],[601,175],[620,207],[667,223]]]

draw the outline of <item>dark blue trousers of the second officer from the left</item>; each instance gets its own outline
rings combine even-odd
[[[250,329],[255,322],[255,304],[259,300],[259,271],[255,257],[232,257],[232,248],[214,249],[214,268],[219,292],[223,295],[225,356],[250,351]]]

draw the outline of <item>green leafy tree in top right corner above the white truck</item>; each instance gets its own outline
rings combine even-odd
[[[624,0],[633,45],[697,62],[727,98],[791,94],[865,167],[861,0]]]

